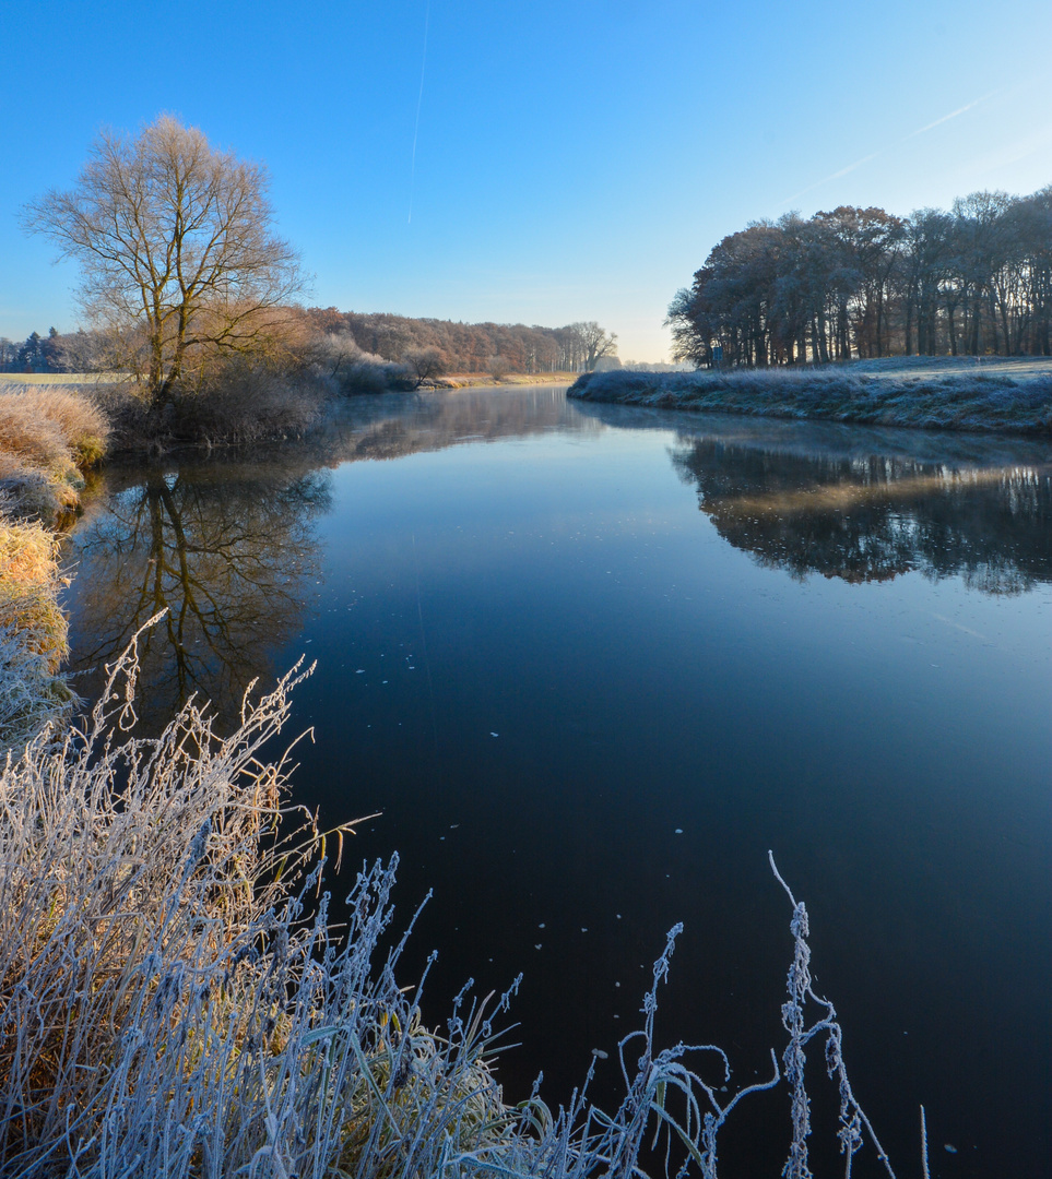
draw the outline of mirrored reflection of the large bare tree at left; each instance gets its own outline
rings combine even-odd
[[[320,575],[313,522],[329,505],[329,474],[315,466],[268,455],[111,473],[106,509],[67,551],[77,690],[96,699],[104,665],[166,610],[140,641],[142,720],[163,726],[193,693],[236,716],[245,686],[302,626]]]

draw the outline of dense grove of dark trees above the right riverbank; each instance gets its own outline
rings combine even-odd
[[[666,323],[673,356],[697,367],[1052,355],[1052,186],[975,192],[949,212],[752,222],[677,291]]]

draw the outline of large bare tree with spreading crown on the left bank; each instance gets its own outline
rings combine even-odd
[[[134,137],[103,132],[72,189],[26,205],[26,229],[80,264],[81,305],[123,334],[154,409],[218,357],[282,338],[303,274],[267,190],[262,164],[162,114]]]

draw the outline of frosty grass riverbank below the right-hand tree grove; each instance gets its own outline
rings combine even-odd
[[[585,373],[583,401],[864,426],[1048,435],[1052,358],[889,357],[803,369]]]

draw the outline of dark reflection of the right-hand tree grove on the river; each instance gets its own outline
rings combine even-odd
[[[1052,580],[1052,470],[801,454],[682,439],[672,462],[721,536],[796,578],[960,575],[986,593]]]

